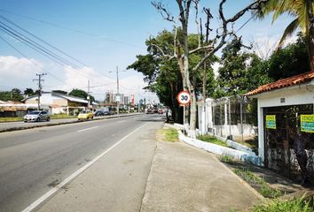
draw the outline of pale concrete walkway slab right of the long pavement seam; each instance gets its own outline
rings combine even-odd
[[[141,212],[232,211],[261,201],[214,155],[183,142],[158,142]]]

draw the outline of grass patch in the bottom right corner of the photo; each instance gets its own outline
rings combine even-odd
[[[254,212],[313,212],[310,208],[310,202],[302,199],[295,199],[292,201],[273,200],[269,203],[255,206]]]

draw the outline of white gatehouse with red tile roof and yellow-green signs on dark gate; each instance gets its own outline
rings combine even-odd
[[[263,164],[288,178],[300,178],[296,154],[302,150],[314,177],[314,72],[263,85],[247,96],[258,100],[258,153]]]

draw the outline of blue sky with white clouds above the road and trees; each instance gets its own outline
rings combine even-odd
[[[219,2],[202,0],[200,8],[210,7],[217,17]],[[163,3],[177,15],[174,0],[163,0]],[[226,17],[249,3],[249,0],[228,0],[225,4]],[[7,42],[44,69],[41,70],[0,40],[0,90],[11,90],[13,87],[22,91],[26,87],[35,89],[36,84],[32,80],[35,73],[46,71],[44,91],[70,91],[73,87],[87,91],[87,81],[90,80],[90,91],[98,100],[103,100],[106,91],[116,91],[116,66],[121,71],[125,70],[138,54],[145,54],[145,40],[150,35],[171,29],[169,22],[161,18],[149,0],[2,0],[0,15],[85,64],[75,68],[56,64],[0,31]],[[244,16],[234,28],[238,29],[249,17],[250,14]],[[289,20],[283,17],[272,26],[270,18],[251,20],[239,34],[247,43],[259,42],[260,49],[264,46],[266,51],[278,41]],[[214,19],[214,26],[218,22]],[[194,24],[189,31],[196,32]],[[156,100],[153,94],[141,89],[145,83],[140,73],[130,70],[119,72],[119,76],[121,93],[136,96],[139,93],[140,98]],[[102,86],[104,84],[106,86]]]

